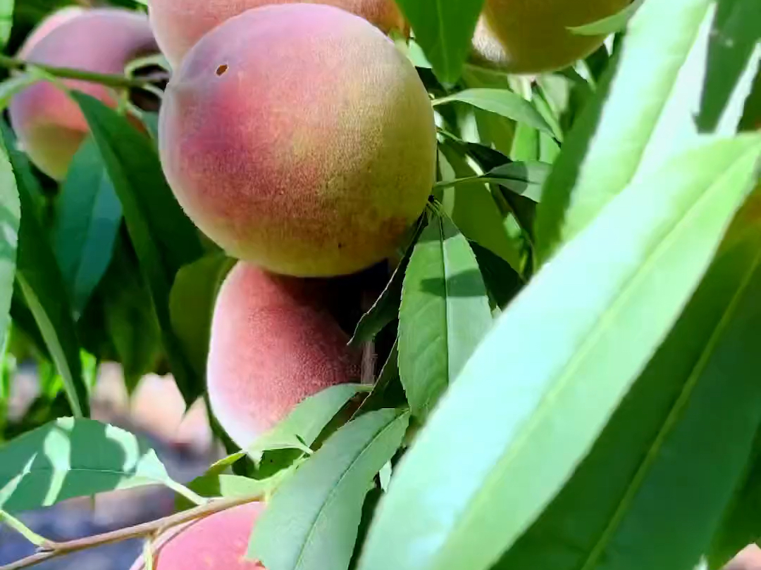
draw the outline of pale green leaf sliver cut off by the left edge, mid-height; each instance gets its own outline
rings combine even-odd
[[[10,325],[13,280],[16,274],[18,226],[21,221],[16,178],[5,145],[0,152],[0,346],[5,347]],[[2,351],[5,355],[5,350]],[[0,389],[2,392],[2,389]],[[6,394],[7,397],[7,394]]]

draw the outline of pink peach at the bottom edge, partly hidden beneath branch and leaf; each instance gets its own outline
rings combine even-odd
[[[245,559],[263,505],[250,502],[167,530],[154,543],[154,570],[256,570]],[[132,570],[145,570],[142,556]]]

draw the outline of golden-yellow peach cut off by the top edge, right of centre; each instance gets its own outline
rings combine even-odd
[[[616,14],[630,0],[486,0],[473,46],[482,62],[511,73],[554,71],[594,52],[604,36],[568,27]]]

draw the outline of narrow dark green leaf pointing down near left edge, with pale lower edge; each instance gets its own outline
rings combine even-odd
[[[6,147],[13,144],[11,130],[5,122],[0,125]],[[75,416],[87,416],[90,406],[84,385],[79,344],[72,308],[65,293],[63,278],[50,248],[46,232],[37,217],[36,207],[27,180],[31,173],[27,165],[16,160],[11,152],[11,164],[21,201],[21,228],[18,234],[16,281],[27,303],[53,363],[56,364],[63,387]]]

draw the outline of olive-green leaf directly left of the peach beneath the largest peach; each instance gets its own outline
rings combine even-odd
[[[206,375],[217,292],[234,264],[235,261],[223,253],[206,255],[177,272],[170,292],[169,315],[174,334],[201,378]]]

